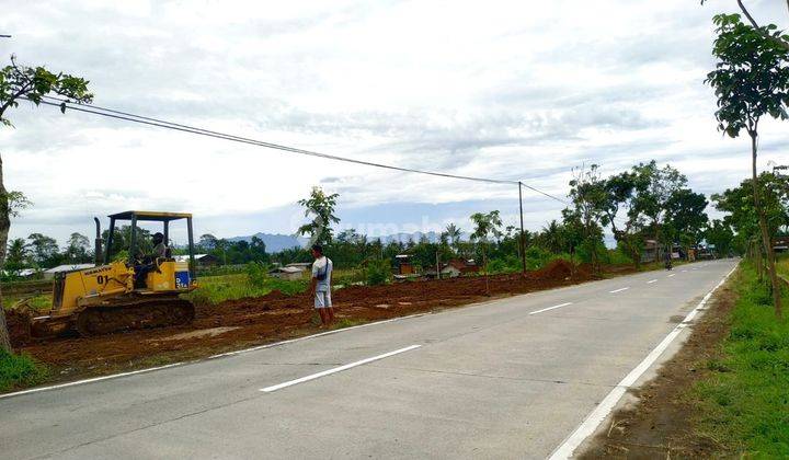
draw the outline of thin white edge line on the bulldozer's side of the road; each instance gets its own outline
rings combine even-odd
[[[259,350],[259,349],[273,348],[273,347],[276,347],[276,346],[288,345],[288,344],[291,344],[291,343],[295,343],[295,342],[301,342],[301,341],[308,341],[308,340],[310,340],[310,338],[322,337],[322,336],[324,336],[324,335],[339,334],[339,333],[341,333],[341,332],[352,331],[352,330],[354,330],[354,329],[369,327],[369,326],[371,326],[371,325],[386,324],[386,323],[390,323],[390,322],[393,322],[393,321],[407,320],[407,319],[410,319],[410,318],[419,318],[419,317],[424,317],[424,315],[427,315],[427,314],[432,314],[432,313],[431,313],[431,312],[424,312],[424,313],[409,314],[409,315],[407,315],[407,317],[390,318],[390,319],[384,320],[384,321],[376,321],[376,322],[373,322],[373,323],[358,324],[358,325],[351,326],[351,327],[336,329],[336,330],[334,330],[334,331],[327,331],[327,332],[321,332],[321,333],[318,333],[318,334],[306,335],[306,336],[304,336],[304,337],[289,338],[289,340],[287,340],[287,341],[282,341],[282,342],[274,342],[273,344],[259,345],[259,346],[253,346],[253,347],[251,347],[251,348],[237,349],[237,350],[235,350],[235,352],[221,353],[221,354],[219,354],[219,355],[213,355],[213,356],[209,356],[209,357],[207,357],[207,358],[193,359],[193,360],[188,360],[188,361],[172,363],[172,364],[164,365],[164,366],[149,367],[149,368],[147,368],[147,369],[133,370],[133,371],[129,371],[129,372],[113,373],[113,375],[111,375],[111,376],[94,377],[94,378],[84,379],[84,380],[76,380],[76,381],[72,381],[72,382],[53,384],[53,386],[49,386],[49,387],[31,388],[31,389],[28,389],[28,390],[22,390],[22,391],[15,391],[15,392],[13,392],[13,393],[0,394],[0,400],[5,399],[5,398],[11,398],[11,396],[21,396],[21,395],[23,395],[23,394],[28,394],[28,393],[38,393],[38,392],[42,392],[42,391],[58,390],[58,389],[61,389],[61,388],[76,387],[76,386],[87,384],[87,383],[94,383],[94,382],[99,382],[99,381],[102,381],[102,380],[111,380],[111,379],[117,379],[117,378],[121,378],[121,377],[135,376],[135,375],[137,375],[137,373],[152,372],[152,371],[155,371],[155,370],[162,370],[162,369],[168,369],[168,368],[171,368],[171,367],[178,367],[178,366],[185,366],[185,365],[191,365],[191,364],[203,363],[203,361],[207,361],[207,360],[210,360],[210,359],[222,358],[222,357],[226,357],[226,356],[241,355],[241,354],[244,354],[244,353],[256,352],[256,350]]]

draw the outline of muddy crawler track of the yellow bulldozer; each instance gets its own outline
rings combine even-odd
[[[140,299],[113,306],[90,307],[77,315],[82,336],[111,334],[188,324],[194,320],[192,302],[183,299]]]

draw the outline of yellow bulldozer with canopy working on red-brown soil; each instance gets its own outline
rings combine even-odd
[[[126,211],[108,217],[106,241],[102,240],[101,223],[94,218],[96,266],[55,276],[52,310],[31,320],[31,335],[42,337],[77,331],[90,336],[187,324],[194,319],[194,304],[181,298],[197,287],[192,215]],[[130,222],[128,248],[124,248],[128,257],[113,253],[117,246],[114,239],[118,237],[118,221]],[[160,222],[165,248],[170,225],[174,221],[186,222],[188,257],[176,260],[169,250],[159,256],[144,255],[138,222]]]

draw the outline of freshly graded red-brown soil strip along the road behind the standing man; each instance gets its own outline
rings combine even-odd
[[[557,261],[525,277],[517,274],[490,276],[488,280],[479,276],[386,286],[350,286],[334,291],[332,300],[339,321],[362,323],[430,312],[491,297],[550,289],[592,278],[588,267],[573,267],[564,261]],[[214,336],[184,334],[214,327],[228,327],[228,332]],[[307,335],[317,330],[311,298],[273,291],[259,298],[197,306],[195,320],[187,326],[84,338],[54,338],[22,344],[18,350],[50,366],[56,378],[64,380],[194,359]],[[193,338],[173,340],[178,334]]]

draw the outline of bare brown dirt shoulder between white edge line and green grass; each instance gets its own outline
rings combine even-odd
[[[736,300],[731,285],[722,287],[713,299],[679,352],[661,367],[653,380],[631,392],[638,401],[617,411],[604,433],[593,438],[580,458],[720,456],[722,446],[693,429],[698,413],[689,392],[696,382],[709,376],[706,364],[720,356],[720,343],[729,333],[728,319]]]

